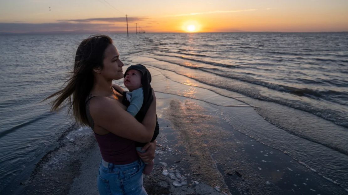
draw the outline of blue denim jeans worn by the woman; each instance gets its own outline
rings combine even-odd
[[[97,186],[101,195],[147,195],[143,187],[144,162],[129,164],[100,163]]]

